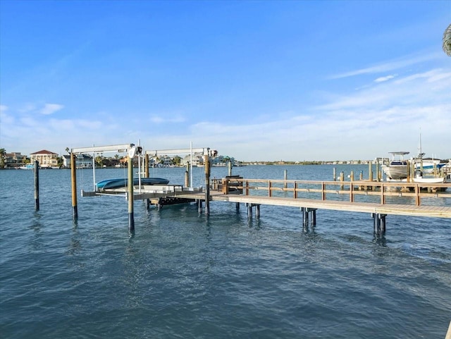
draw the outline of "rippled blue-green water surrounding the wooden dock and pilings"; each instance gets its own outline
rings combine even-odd
[[[336,166],[337,173],[366,166]],[[332,166],[247,166],[245,178],[332,178]],[[183,183],[183,168],[152,176]],[[226,168],[213,168],[221,178]],[[97,181],[124,177],[101,169]],[[194,168],[202,185],[203,169]],[[128,233],[123,197],[78,197],[70,171],[0,171],[1,338],[445,338],[451,320],[451,221],[211,203],[146,211]],[[92,171],[78,171],[91,190]],[[451,200],[447,202],[449,204]],[[432,202],[434,203],[434,202]],[[443,204],[443,202],[440,202]]]

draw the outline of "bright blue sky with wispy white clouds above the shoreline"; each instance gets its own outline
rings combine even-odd
[[[451,157],[450,1],[0,1],[0,148]]]

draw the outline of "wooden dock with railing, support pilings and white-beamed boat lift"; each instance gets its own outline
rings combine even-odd
[[[77,179],[75,172],[75,154],[95,152],[127,152],[128,154],[128,187],[119,190],[101,190],[84,192],[82,196],[95,195],[123,195],[128,200],[128,228],[135,229],[134,207],[135,199],[144,199],[146,207],[156,204],[159,207],[165,204],[178,204],[185,202],[197,202],[199,211],[202,210],[202,202],[205,204],[205,214],[210,213],[210,202],[235,202],[246,204],[247,214],[252,217],[252,208],[256,208],[256,216],[260,216],[261,205],[297,207],[303,213],[303,225],[308,227],[316,223],[317,209],[330,209],[335,211],[350,211],[370,213],[373,216],[375,233],[385,233],[385,216],[388,214],[404,216],[426,216],[435,218],[451,218],[451,183],[387,183],[381,182],[377,176],[373,181],[372,166],[370,164],[369,180],[354,180],[351,173],[350,181],[344,180],[343,173],[340,181],[314,181],[314,180],[262,180],[245,179],[239,175],[229,175],[226,178],[210,178],[210,156],[215,156],[216,151],[204,147],[201,149],[177,149],[143,152],[142,147],[135,144],[117,144],[100,147],[81,147],[71,149],[71,180],[72,180],[72,207],[73,219],[78,218],[77,207]],[[183,185],[166,186],[142,186],[133,185],[132,159],[139,160],[144,157],[144,177],[149,177],[149,154],[179,154],[186,152],[203,154],[205,168],[205,186],[195,189],[187,187],[190,170],[185,171],[185,187]],[[145,156],[144,156],[145,155]],[[361,175],[362,177],[362,175]],[[192,185],[190,183],[189,185]],[[448,190],[448,192],[445,192]],[[436,199],[431,202],[431,199]],[[426,203],[424,203],[426,202]]]

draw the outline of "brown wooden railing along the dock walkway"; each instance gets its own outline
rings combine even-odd
[[[291,197],[294,199],[421,205],[425,198],[451,198],[451,183],[388,183],[376,181],[214,179],[212,189],[223,194]],[[448,192],[446,190],[448,189]],[[447,202],[445,202],[447,204]]]

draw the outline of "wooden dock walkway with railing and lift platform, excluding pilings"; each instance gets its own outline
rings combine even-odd
[[[383,216],[451,218],[451,183],[430,186],[359,180],[342,182],[223,178],[213,180],[209,201],[363,212]],[[141,190],[135,187],[134,192],[134,199],[150,199],[152,204],[157,205],[206,200],[204,191],[188,189],[182,185],[142,186]],[[125,193],[126,188],[102,193],[89,192],[85,195]],[[422,204],[426,199],[440,199],[442,204]]]

